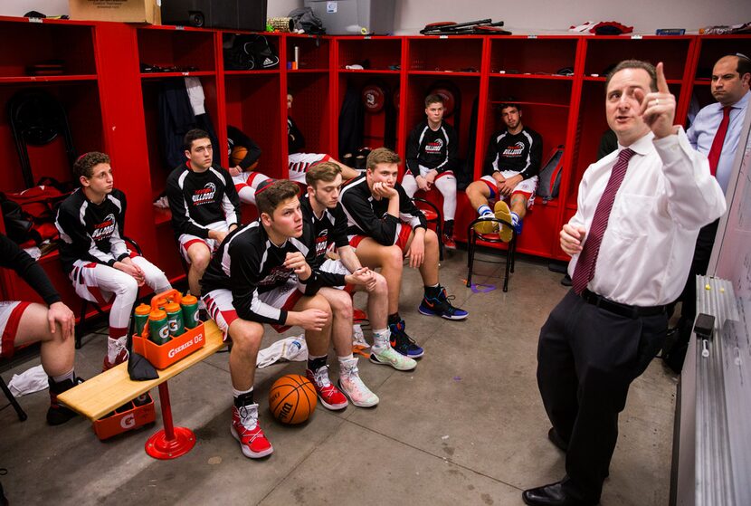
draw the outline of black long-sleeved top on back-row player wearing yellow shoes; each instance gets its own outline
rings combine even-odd
[[[513,170],[529,179],[537,176],[541,161],[542,137],[535,130],[524,127],[518,134],[501,130],[490,137],[484,174]]]

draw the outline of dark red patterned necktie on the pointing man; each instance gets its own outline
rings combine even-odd
[[[594,278],[594,265],[597,263],[597,254],[600,253],[600,244],[603,242],[603,235],[607,228],[607,222],[610,218],[610,211],[613,209],[613,201],[618,188],[623,183],[623,177],[626,176],[626,169],[629,167],[629,160],[633,156],[633,151],[629,148],[623,149],[618,153],[618,161],[615,162],[610,172],[610,178],[597,208],[594,210],[592,224],[589,232],[586,234],[586,241],[582,253],[579,253],[579,260],[576,262],[572,284],[576,293],[585,290],[586,285]]]

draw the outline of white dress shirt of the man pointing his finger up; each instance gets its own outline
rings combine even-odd
[[[699,228],[725,213],[725,196],[707,157],[691,148],[682,128],[661,139],[649,132],[629,148],[634,155],[587,286],[611,301],[660,306],[683,290]],[[586,169],[570,224],[589,230],[621,149]],[[578,258],[568,264],[571,276]]]

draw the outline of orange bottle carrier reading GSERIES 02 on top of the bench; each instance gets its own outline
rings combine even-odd
[[[155,295],[151,299],[151,313],[146,327],[140,334],[133,336],[133,350],[146,357],[151,362],[151,365],[157,369],[168,368],[181,358],[185,358],[193,353],[196,349],[202,348],[206,343],[203,321],[199,322],[194,329],[187,329],[180,322],[180,325],[183,326],[183,333],[179,335],[173,333],[172,339],[169,339],[169,325],[166,324],[166,340],[161,345],[149,339],[149,334],[154,339],[154,330],[149,329],[152,325],[159,325],[158,329],[162,330],[160,326],[161,322],[157,323],[153,321],[155,313],[162,313],[165,321],[167,320],[166,311],[160,309],[160,306],[161,308],[166,308],[174,303],[179,308],[182,300],[182,295],[176,290],[165,291]],[[175,308],[175,306],[171,307]]]

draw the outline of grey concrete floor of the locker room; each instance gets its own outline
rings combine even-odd
[[[46,391],[24,396],[26,422],[0,408],[0,468],[7,469],[0,480],[11,504],[522,504],[522,490],[564,474],[563,453],[547,441],[535,379],[539,328],[567,290],[561,274],[519,260],[503,293],[502,265],[476,263],[473,282],[498,289],[475,293],[463,285],[466,253],[454,253],[441,282],[471,313],[455,322],[420,315],[422,282],[405,272],[401,313],[425,357],[408,373],[361,360],[361,376],[381,398],[376,408],[332,413],[318,405],[307,424],[280,425],[268,390],[283,374],[304,374],[304,364],[260,369],[256,398],[275,452],[246,459],[229,434],[227,354],[216,354],[170,381],[176,425],[198,440],[190,453],[163,462],[144,452],[161,428],[158,406],[156,425],[100,442],[82,418],[47,426]],[[272,339],[278,335],[270,330]],[[105,339],[91,334],[84,342],[77,371],[91,377]],[[668,503],[675,389],[659,360],[633,384],[604,505]]]

